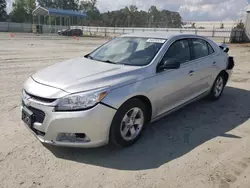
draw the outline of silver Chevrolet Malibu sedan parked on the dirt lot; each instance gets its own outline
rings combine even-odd
[[[130,146],[148,123],[202,97],[219,99],[234,67],[228,51],[197,35],[114,38],[28,78],[22,120],[46,144]]]

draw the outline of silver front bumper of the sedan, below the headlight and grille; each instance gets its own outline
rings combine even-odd
[[[45,114],[42,123],[34,122],[31,127],[25,124],[42,143],[84,148],[99,147],[108,144],[109,130],[116,113],[115,109],[98,104],[85,111],[55,112],[54,107],[34,102],[31,102],[29,106],[39,109]],[[38,134],[38,132],[43,134]],[[83,133],[89,138],[89,141],[59,141],[58,135],[60,133]]]

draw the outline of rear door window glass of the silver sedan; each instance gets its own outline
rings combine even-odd
[[[209,55],[207,42],[202,39],[192,39],[193,59],[199,59]]]

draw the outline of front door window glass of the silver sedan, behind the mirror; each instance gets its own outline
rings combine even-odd
[[[188,40],[178,40],[174,42],[163,57],[163,61],[176,59],[177,62],[185,63],[190,61],[190,49]]]

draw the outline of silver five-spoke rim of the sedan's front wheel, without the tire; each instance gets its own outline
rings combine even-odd
[[[122,119],[120,132],[124,140],[130,141],[136,138],[142,130],[144,115],[140,108],[130,109]]]

